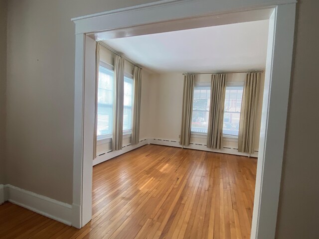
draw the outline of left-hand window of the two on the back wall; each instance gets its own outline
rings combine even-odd
[[[210,86],[195,86],[191,132],[206,133],[208,128]]]

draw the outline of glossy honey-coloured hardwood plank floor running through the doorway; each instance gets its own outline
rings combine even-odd
[[[248,239],[257,160],[146,145],[93,167],[81,230],[0,206],[1,239]]]

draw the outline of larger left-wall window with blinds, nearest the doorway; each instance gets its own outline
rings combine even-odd
[[[100,66],[98,85],[98,125],[97,135],[112,133],[114,72]]]

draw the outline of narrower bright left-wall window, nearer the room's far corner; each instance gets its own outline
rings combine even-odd
[[[132,133],[133,79],[124,77],[123,133]]]

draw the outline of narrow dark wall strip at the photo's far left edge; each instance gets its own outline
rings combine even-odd
[[[5,183],[5,88],[7,0],[0,0],[0,184]]]

